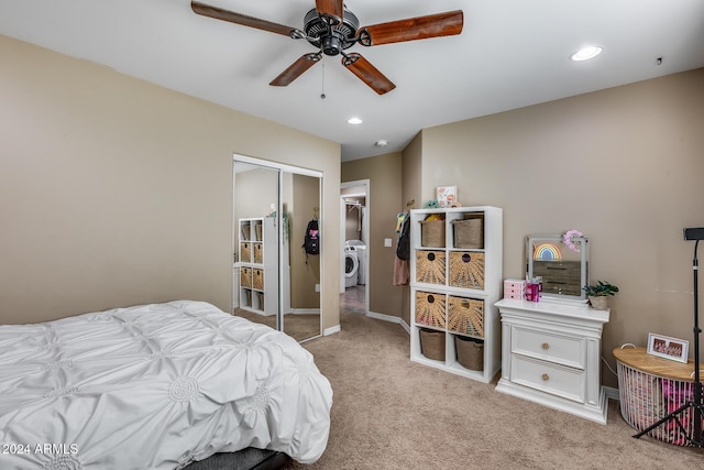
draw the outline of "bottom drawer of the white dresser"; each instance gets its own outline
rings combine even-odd
[[[586,373],[583,370],[518,354],[513,354],[510,361],[512,382],[563,398],[584,402]]]

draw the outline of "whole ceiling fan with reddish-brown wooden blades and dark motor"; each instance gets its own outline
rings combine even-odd
[[[198,1],[191,1],[190,7],[194,12],[204,17],[282,34],[294,40],[305,39],[318,50],[299,57],[270,83],[272,86],[289,85],[319,62],[322,54],[342,55],[342,65],[380,95],[393,90],[396,85],[361,54],[345,53],[348,48],[356,43],[363,46],[375,46],[455,35],[462,32],[464,20],[462,10],[455,10],[360,28],[360,21],[348,10],[343,0],[316,0],[316,8],[306,13],[304,29],[299,30]]]

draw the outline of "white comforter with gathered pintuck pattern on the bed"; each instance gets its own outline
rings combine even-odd
[[[174,469],[245,447],[310,463],[332,390],[272,328],[197,302],[0,326],[0,469]]]

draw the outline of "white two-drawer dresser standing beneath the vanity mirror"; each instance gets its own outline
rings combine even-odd
[[[609,310],[503,299],[502,378],[496,390],[606,424],[602,330]]]

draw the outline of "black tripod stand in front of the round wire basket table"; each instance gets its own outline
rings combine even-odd
[[[641,430],[635,438],[639,438],[644,434],[650,433],[652,429],[658,426],[674,420],[678,425],[678,428],[685,436],[686,441],[696,447],[704,447],[704,442],[702,441],[702,382],[700,378],[700,334],[702,329],[700,328],[700,309],[698,309],[698,262],[696,260],[696,249],[698,248],[700,240],[704,240],[704,227],[684,229],[684,240],[696,240],[694,242],[694,259],[692,261],[692,271],[694,272],[694,396],[693,400],[688,401],[685,404],[680,406],[674,412],[670,413],[659,422],[654,423],[652,426],[647,427]],[[680,422],[680,415],[686,412],[688,409],[694,411],[694,435],[689,436],[686,429]]]

